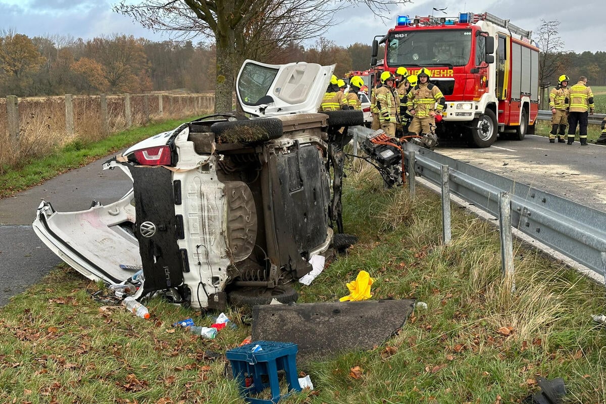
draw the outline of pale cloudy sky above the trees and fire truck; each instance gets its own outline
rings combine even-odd
[[[152,41],[170,39],[167,33],[145,30],[137,22],[112,11],[107,0],[0,0],[0,30],[12,29],[27,36],[73,36],[90,39],[113,33],[144,37]],[[370,44],[375,35],[382,35],[395,25],[398,15],[427,16],[431,9],[447,8],[447,15],[459,12],[489,12],[512,24],[536,31],[541,18],[559,20],[559,33],[565,50],[606,51],[604,1],[562,0],[415,0],[393,8],[386,22],[373,17],[367,8],[347,8],[339,13],[342,21],[331,27],[325,37],[347,47],[355,42]],[[435,16],[441,13],[434,12]],[[350,17],[351,16],[351,17]],[[202,39],[202,38],[201,38]]]

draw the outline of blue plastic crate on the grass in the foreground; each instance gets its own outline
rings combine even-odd
[[[259,345],[261,350],[253,352],[253,347]],[[225,353],[231,363],[233,377],[238,382],[244,399],[252,404],[275,404],[281,398],[278,371],[284,370],[288,382],[288,394],[291,391],[301,391],[297,374],[298,347],[290,342],[255,341]],[[263,383],[261,376],[267,376],[269,383]],[[252,384],[247,386],[248,382]],[[250,394],[256,394],[265,388],[271,389],[271,400],[256,399]],[[287,396],[288,394],[285,394]]]

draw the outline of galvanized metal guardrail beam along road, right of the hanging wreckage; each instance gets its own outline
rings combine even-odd
[[[417,175],[441,186],[441,166],[447,165],[450,192],[495,217],[499,194],[510,193],[514,228],[604,276],[606,213],[426,148],[409,143],[405,148],[406,160],[410,151],[415,152]]]

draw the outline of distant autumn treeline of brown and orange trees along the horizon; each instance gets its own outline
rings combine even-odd
[[[335,74],[365,70],[370,45],[342,47],[326,38],[313,46],[299,44],[276,49],[261,62],[281,64],[306,61],[336,64]],[[606,52],[562,55],[571,81],[587,76],[591,85],[606,85]],[[0,96],[59,94],[144,93],[184,90],[193,93],[215,89],[214,45],[191,41],[153,42],[127,35],[88,41],[69,37],[34,37],[0,32]],[[545,81],[554,82],[554,78]]]

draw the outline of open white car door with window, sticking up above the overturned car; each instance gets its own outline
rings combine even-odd
[[[333,70],[335,65],[270,65],[248,59],[236,80],[238,102],[255,116],[318,112]]]

